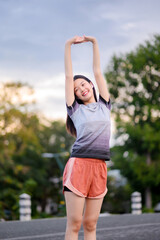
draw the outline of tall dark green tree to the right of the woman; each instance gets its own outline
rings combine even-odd
[[[152,207],[160,187],[160,36],[135,51],[113,56],[106,70],[116,139],[115,167]],[[155,202],[154,202],[155,204]]]

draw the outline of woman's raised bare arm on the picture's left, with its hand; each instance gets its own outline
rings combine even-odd
[[[68,106],[71,106],[74,102],[74,82],[73,82],[73,70],[72,70],[72,59],[71,59],[71,45],[82,43],[84,37],[75,36],[69,39],[65,44],[65,98]]]

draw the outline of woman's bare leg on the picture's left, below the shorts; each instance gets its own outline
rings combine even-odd
[[[85,198],[65,191],[67,226],[65,240],[77,240],[81,228]]]

